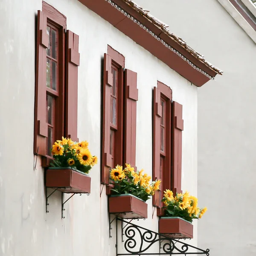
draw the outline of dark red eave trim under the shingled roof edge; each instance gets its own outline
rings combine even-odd
[[[103,19],[107,20],[125,35],[130,37],[137,44],[140,44],[143,48],[147,49],[158,59],[166,63],[169,67],[179,73],[181,76],[185,77],[187,80],[191,81],[198,87],[201,87],[209,78],[199,71],[191,67],[186,61],[180,58],[176,53],[165,47],[160,41],[157,41],[154,37],[149,35],[144,29],[134,23],[132,20],[125,17],[121,12],[118,12],[116,8],[113,8],[111,4],[104,0],[79,0],[93,12],[96,12]],[[199,61],[193,55],[191,55],[186,49],[184,49],[176,41],[172,40],[169,36],[164,34],[160,28],[157,28],[153,23],[146,19],[143,15],[134,10],[131,6],[128,6],[122,0],[115,0],[115,3],[128,12],[130,15],[135,17],[143,25],[148,27],[155,35],[160,35],[160,37],[166,41],[170,46],[174,47],[183,56],[189,59],[197,67],[201,68],[207,74],[215,77],[217,73],[207,67],[204,63]]]

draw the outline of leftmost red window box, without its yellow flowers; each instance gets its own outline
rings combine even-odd
[[[46,171],[46,186],[58,188],[64,193],[90,193],[89,175],[71,167],[49,167]]]

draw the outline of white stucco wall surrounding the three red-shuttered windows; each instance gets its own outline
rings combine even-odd
[[[77,0],[47,2],[67,16],[67,29],[80,36],[79,139],[88,140],[90,151],[100,157],[101,63],[109,44],[125,56],[125,67],[138,73],[137,167],[152,174],[152,89],[159,80],[183,105],[182,188],[196,195],[197,88]],[[49,198],[49,213],[45,211],[44,170],[39,157],[34,169],[33,155],[38,9],[41,0],[0,3],[0,255],[114,256],[115,229],[113,225],[109,238],[105,189],[100,198],[100,164],[90,172],[90,196],[75,195],[65,204],[64,219],[61,192]],[[136,224],[157,231],[156,211],[153,218],[152,212],[149,200],[148,219]],[[196,224],[194,229],[196,245]]]

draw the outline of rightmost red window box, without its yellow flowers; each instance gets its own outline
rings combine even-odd
[[[159,233],[171,238],[193,238],[193,224],[180,217],[159,219]]]

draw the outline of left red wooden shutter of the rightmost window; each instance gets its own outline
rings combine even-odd
[[[160,122],[162,117],[161,93],[154,87],[153,105],[153,180],[160,179]],[[161,189],[161,186],[160,186]],[[161,206],[161,191],[156,191],[153,196],[153,206]]]

